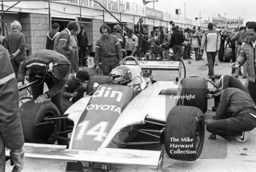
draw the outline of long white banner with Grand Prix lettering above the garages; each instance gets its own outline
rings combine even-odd
[[[127,0],[97,0],[100,4],[106,7],[112,12],[122,12],[132,15],[145,16],[145,7],[142,5],[135,4],[135,2],[130,2]],[[60,1],[65,4],[75,4],[81,5],[94,9],[102,9],[97,2],[93,0],[66,0]]]

